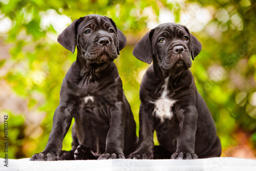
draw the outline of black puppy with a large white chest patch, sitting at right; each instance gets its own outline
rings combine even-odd
[[[139,146],[130,158],[153,158],[155,130],[168,158],[221,155],[214,120],[188,69],[190,55],[194,60],[201,49],[186,27],[174,23],[159,25],[136,45],[133,55],[153,65],[140,85]]]

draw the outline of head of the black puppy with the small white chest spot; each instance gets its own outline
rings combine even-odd
[[[126,45],[126,37],[109,17],[87,15],[69,25],[59,36],[58,42],[90,63],[111,62]]]

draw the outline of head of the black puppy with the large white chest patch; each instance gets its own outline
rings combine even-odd
[[[194,60],[201,49],[201,43],[185,26],[165,23],[146,33],[133,55],[146,63],[154,58],[163,72],[180,75],[191,67],[191,58]]]

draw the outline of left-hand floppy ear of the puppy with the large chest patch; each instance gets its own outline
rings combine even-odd
[[[152,51],[152,44],[151,44],[151,37],[154,33],[154,29],[150,32],[147,32],[137,43],[133,50],[133,55],[148,64],[152,62],[153,59],[153,51]]]

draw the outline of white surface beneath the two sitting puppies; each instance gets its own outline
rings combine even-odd
[[[9,159],[8,167],[4,166],[4,159],[0,159],[0,170],[243,170],[255,171],[256,160],[231,157],[219,157],[197,160],[69,160],[69,161],[29,161],[26,159]]]

